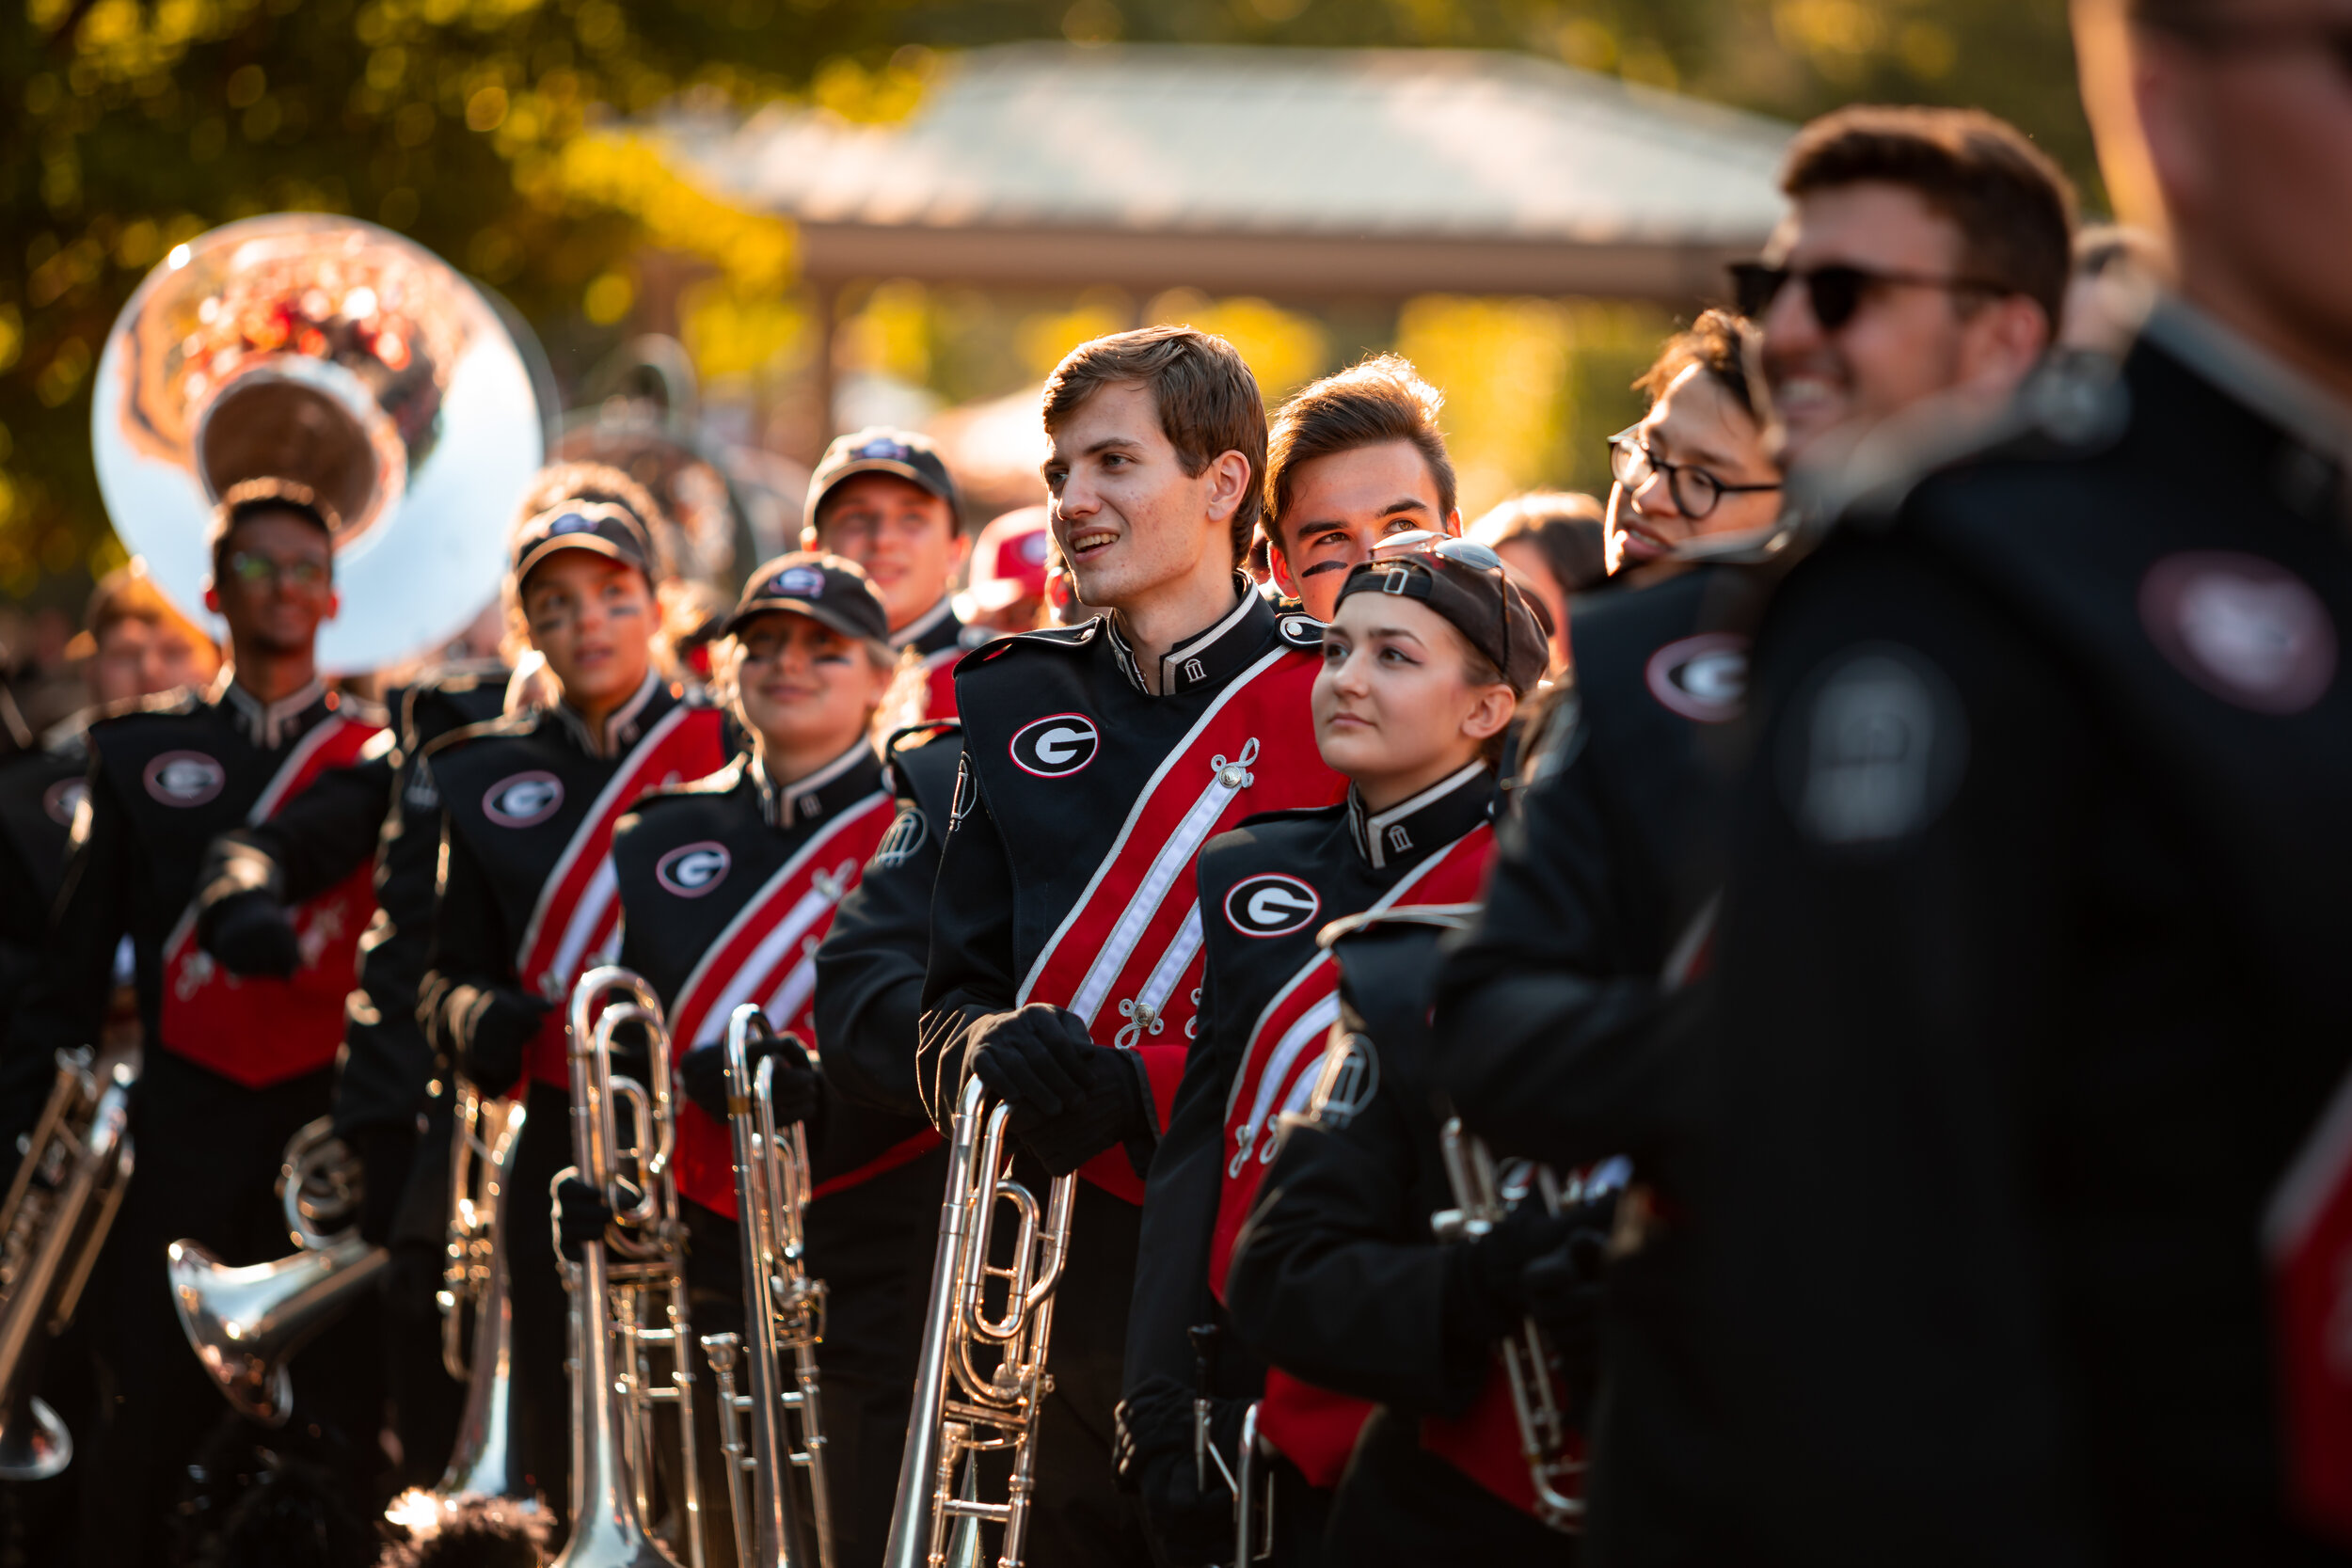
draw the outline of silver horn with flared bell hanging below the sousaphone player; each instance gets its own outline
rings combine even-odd
[[[221,1396],[266,1427],[282,1427],[294,1410],[287,1361],[390,1265],[390,1253],[360,1239],[360,1161],[329,1117],[287,1140],[278,1201],[296,1246],[287,1258],[233,1269],[198,1241],[165,1248],[188,1347]]]

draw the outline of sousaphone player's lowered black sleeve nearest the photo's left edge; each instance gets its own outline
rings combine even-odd
[[[33,1124],[56,1074],[56,1053],[94,1046],[113,992],[115,947],[129,929],[139,842],[115,799],[103,752],[89,748],[89,818],[66,858],[40,971],[9,1020],[0,1053],[0,1133]]]

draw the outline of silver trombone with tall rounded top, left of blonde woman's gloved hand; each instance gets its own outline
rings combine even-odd
[[[607,1001],[609,999],[609,1001]],[[600,1004],[604,1004],[600,1009]],[[652,1088],[614,1074],[612,1039],[642,1027]],[[677,1568],[644,1521],[652,1516],[654,1415],[677,1413],[684,1458],[682,1521],[687,1561],[703,1568],[703,1505],[694,1453],[694,1366],[687,1359],[687,1232],[677,1213],[670,1152],[670,1030],[642,976],[604,964],[572,987],[572,1159],[557,1173],[595,1185],[614,1211],[602,1241],[581,1244],[564,1269],[572,1291],[572,1540],[557,1568]],[[614,1107],[626,1105],[635,1143],[621,1143]],[[557,1251],[562,1251],[557,1246]],[[661,1312],[663,1324],[649,1321]],[[670,1375],[656,1385],[652,1352]]]

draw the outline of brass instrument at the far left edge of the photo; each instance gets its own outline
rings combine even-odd
[[[59,1051],[56,1084],[0,1204],[0,1481],[45,1481],[73,1465],[73,1434],[35,1396],[49,1340],[66,1331],[132,1175],[136,1074]]]

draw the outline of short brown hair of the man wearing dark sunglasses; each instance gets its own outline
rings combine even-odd
[[[1917,190],[1959,228],[1962,270],[2034,301],[2058,331],[2074,186],[2018,127],[1980,108],[1856,103],[1797,132],[1785,195],[1860,183]]]

